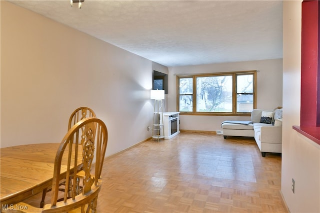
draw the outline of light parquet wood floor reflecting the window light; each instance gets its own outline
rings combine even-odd
[[[102,179],[99,213],[287,213],[281,156],[263,158],[253,138],[149,140],[106,159]]]

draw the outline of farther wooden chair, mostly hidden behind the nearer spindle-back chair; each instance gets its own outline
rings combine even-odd
[[[92,109],[88,108],[88,107],[79,107],[77,109],[75,109],[70,117],[69,117],[69,121],[68,121],[68,130],[74,126],[77,122],[79,122],[80,120],[84,119],[84,118],[96,118],[95,113],[93,112]],[[81,131],[82,135],[83,135],[83,129]],[[78,177],[79,178],[79,177]],[[78,179],[79,181],[79,179]],[[59,188],[60,191],[64,192],[65,191],[65,180],[61,180],[60,182],[60,186],[63,186],[63,188]],[[42,198],[40,201],[40,208],[43,207],[44,205],[44,200],[45,200],[45,196],[46,193],[50,192],[51,189],[43,189],[42,191]],[[79,193],[79,188],[77,189],[77,192]]]

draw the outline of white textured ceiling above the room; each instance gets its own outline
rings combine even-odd
[[[282,58],[279,0],[11,0],[165,66]]]

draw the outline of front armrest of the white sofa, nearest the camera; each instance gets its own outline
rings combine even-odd
[[[261,126],[261,143],[281,144],[282,126]]]

